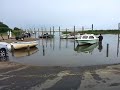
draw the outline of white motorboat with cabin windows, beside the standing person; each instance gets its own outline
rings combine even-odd
[[[99,38],[97,38],[94,34],[83,34],[77,37],[75,40],[79,45],[82,45],[97,43],[99,41]]]

